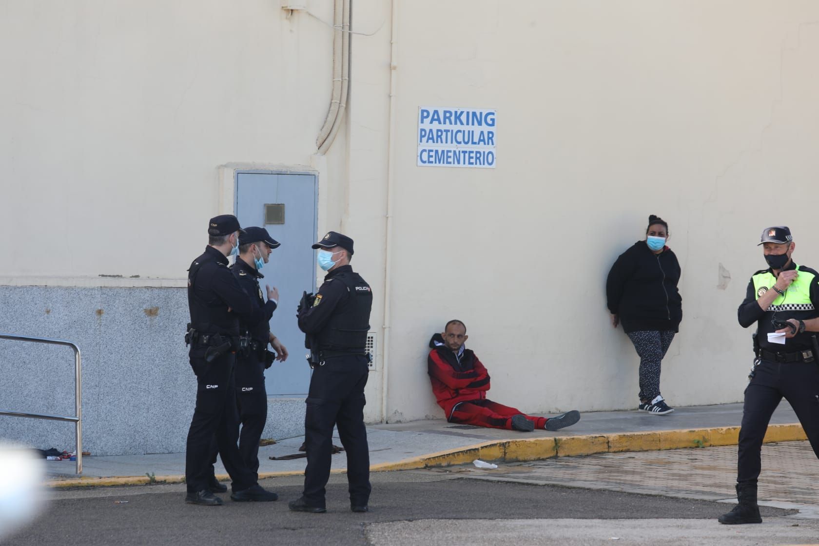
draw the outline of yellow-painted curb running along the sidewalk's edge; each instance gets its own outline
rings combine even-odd
[[[736,445],[739,442],[739,426],[717,426],[676,431],[623,432],[602,435],[545,436],[521,440],[494,440],[464,448],[448,449],[407,458],[396,463],[378,463],[369,467],[370,472],[412,470],[414,468],[450,467],[456,464],[472,463],[476,458],[483,461],[535,461],[553,457],[577,457],[594,453],[622,453],[626,451],[654,451],[658,449],[704,448],[717,445]],[[807,440],[807,435],[799,423],[769,425],[765,443]],[[345,473],[345,469],[334,468],[333,474]],[[302,476],[303,471],[260,472],[259,478]],[[227,474],[216,476],[227,480]],[[182,483],[184,476],[156,476],[157,482]],[[46,482],[48,487],[99,487],[110,485],[146,485],[151,483],[147,476],[116,476],[110,478],[75,478]]]

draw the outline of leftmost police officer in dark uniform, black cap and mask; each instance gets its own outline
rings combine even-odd
[[[272,501],[278,495],[256,483],[236,445],[238,417],[233,387],[235,351],[239,348],[239,317],[257,323],[264,311],[256,308],[228,268],[228,255],[238,253],[239,222],[232,214],[210,219],[205,252],[188,268],[188,307],[191,323],[185,341],[197,376],[197,405],[193,411],[185,453],[186,503],[218,506],[222,499],[210,491],[210,442],[215,435],[219,455],[233,481],[230,498]]]

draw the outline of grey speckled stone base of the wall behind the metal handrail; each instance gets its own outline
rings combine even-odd
[[[83,447],[93,455],[183,453],[196,378],[184,288],[0,287],[0,332],[79,345]],[[74,415],[74,354],[0,340],[0,409]],[[265,438],[304,435],[303,398],[270,398]],[[74,424],[0,417],[0,440],[74,450]]]

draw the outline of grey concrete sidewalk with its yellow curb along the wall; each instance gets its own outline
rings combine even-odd
[[[562,431],[517,432],[455,425],[444,420],[369,426],[370,463],[373,471],[447,466],[484,460],[523,461],[559,456],[618,451],[695,448],[736,444],[742,404],[676,408],[666,416],[645,412],[583,413],[581,421]],[[771,418],[766,441],[805,440],[804,431],[790,404],[783,400]],[[298,453],[303,436],[280,440],[259,449],[260,477],[304,472],[305,459],[271,461]],[[341,445],[341,442],[334,442]],[[156,481],[182,481],[184,453],[141,456],[85,457],[83,477],[74,474],[74,463],[48,462],[50,485],[121,485]],[[344,453],[333,455],[333,471],[346,469]],[[217,475],[224,467],[217,463]],[[226,476],[225,476],[226,477]]]

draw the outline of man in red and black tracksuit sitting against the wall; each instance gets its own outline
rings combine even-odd
[[[489,373],[473,351],[464,347],[467,338],[464,323],[450,320],[444,332],[429,341],[429,380],[447,421],[526,432],[536,428],[557,431],[580,421],[576,410],[556,417],[534,417],[486,399]]]

